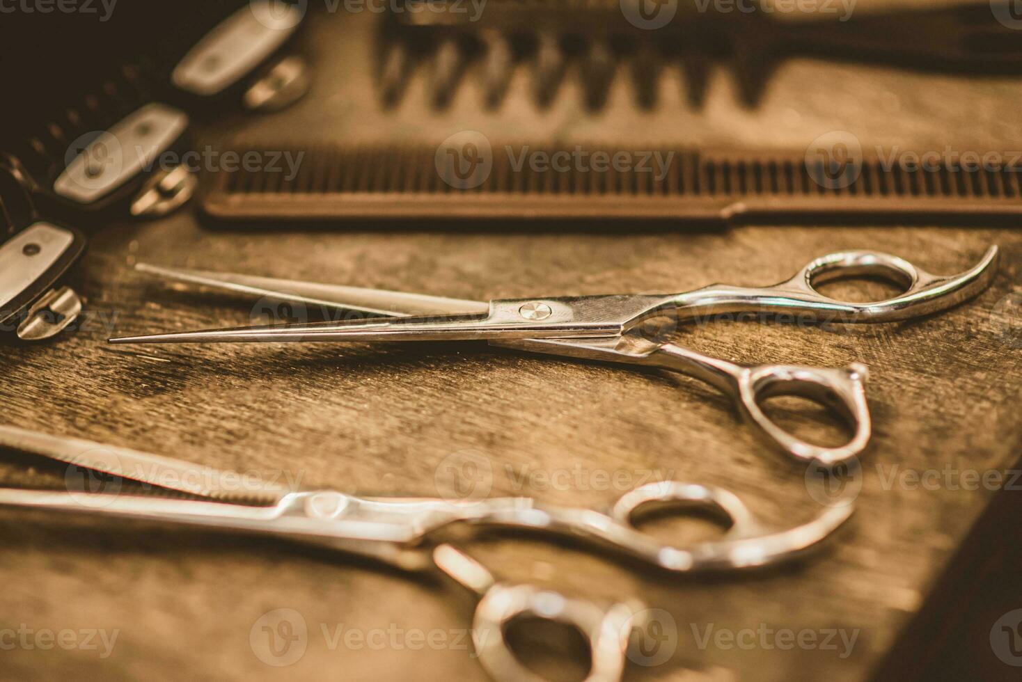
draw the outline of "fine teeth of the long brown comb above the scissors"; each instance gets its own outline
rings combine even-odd
[[[1022,194],[1022,167],[953,170],[944,164],[910,170],[886,167],[879,160],[865,161],[857,179],[846,187],[839,172],[823,163],[806,164],[794,154],[727,153],[714,155],[691,149],[636,146],[629,151],[636,167],[629,170],[535,170],[528,162],[517,164],[521,150],[572,154],[575,149],[599,150],[606,145],[576,148],[531,144],[494,145],[493,168],[476,187],[459,189],[444,177],[453,166],[436,165],[435,147],[351,147],[293,149],[301,155],[293,178],[277,172],[219,173],[216,189],[225,194],[559,194],[559,195],[660,195],[660,196],[826,196],[951,197],[964,199],[1015,199]],[[253,148],[239,151],[244,154]],[[510,150],[508,150],[510,149]],[[642,149],[642,151],[639,151]],[[647,151],[648,150],[648,151]],[[506,153],[505,153],[506,152]],[[258,152],[264,153],[264,152]],[[611,154],[613,152],[607,152]],[[649,156],[645,162],[642,158]],[[655,159],[669,159],[662,175]],[[639,165],[642,169],[637,169]],[[450,165],[450,164],[449,164]],[[646,169],[649,166],[649,169]],[[847,166],[853,172],[852,166]],[[818,178],[834,179],[830,184]],[[475,183],[471,183],[475,184]]]

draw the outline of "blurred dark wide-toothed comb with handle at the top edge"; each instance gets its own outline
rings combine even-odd
[[[730,62],[747,106],[762,96],[780,60],[791,56],[850,59],[951,72],[1022,72],[1022,31],[997,20],[988,3],[928,10],[849,13],[821,3],[805,20],[781,12],[714,11],[714,3],[677,3],[655,30],[630,22],[628,3],[652,0],[490,0],[479,11],[464,0],[407,7],[383,22],[378,88],[384,104],[402,99],[416,65],[427,62],[432,103],[445,107],[472,62],[479,62],[483,104],[498,107],[517,64],[528,64],[539,107],[555,98],[577,62],[586,104],[602,107],[619,63],[628,66],[636,103],[657,100],[659,75],[681,67],[688,99],[702,103],[713,61]],[[672,3],[661,3],[673,6]],[[744,6],[754,6],[751,0]],[[1006,2],[1006,7],[1009,3]],[[661,9],[660,11],[665,11]],[[1006,9],[1007,11],[1007,9]]]

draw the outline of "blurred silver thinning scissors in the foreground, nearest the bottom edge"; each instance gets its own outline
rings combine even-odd
[[[607,513],[601,513],[546,504],[530,497],[477,501],[359,497],[263,481],[244,483],[239,474],[13,427],[0,426],[0,445],[68,465],[65,490],[0,487],[0,506],[97,514],[286,538],[367,556],[405,571],[436,567],[478,598],[473,644],[480,663],[501,681],[542,679],[518,663],[505,638],[511,621],[528,617],[577,629],[590,644],[587,682],[617,682],[632,635],[643,627],[644,608],[634,600],[605,606],[532,585],[498,582],[463,551],[435,540],[434,536],[454,524],[570,537],[667,572],[687,574],[755,569],[791,561],[818,548],[853,512],[851,501],[838,501],[823,507],[806,524],[772,531],[728,490],[670,481],[626,492]],[[79,471],[114,478],[104,484],[109,486],[104,491],[95,492],[91,483],[73,483],[78,479],[72,474]],[[202,499],[159,497],[152,492],[130,494],[121,489],[121,479]],[[731,526],[721,539],[669,546],[634,525],[644,507],[662,504],[700,507],[719,515]]]

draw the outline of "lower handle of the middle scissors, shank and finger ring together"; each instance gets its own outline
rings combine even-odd
[[[868,372],[858,362],[844,370],[792,364],[743,367],[666,343],[645,363],[682,372],[716,386],[735,398],[742,417],[761,436],[796,459],[831,468],[860,454],[870,441]],[[851,439],[837,447],[825,447],[793,436],[762,410],[761,401],[776,395],[796,395],[830,408],[851,427]]]

